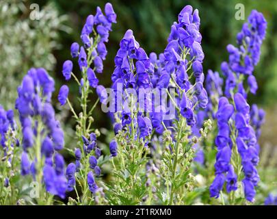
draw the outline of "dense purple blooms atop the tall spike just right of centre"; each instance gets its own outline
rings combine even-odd
[[[181,88],[177,90],[181,99],[178,101],[181,115],[186,118],[187,125],[193,127],[196,124],[194,109],[205,108],[208,103],[207,92],[202,85],[205,79],[202,61],[205,55],[201,47],[198,10],[193,11],[192,6],[187,5],[180,12],[178,20],[179,22],[175,22],[171,27],[168,45],[164,51],[164,69]],[[190,60],[186,59],[187,55]],[[187,75],[190,68],[195,77],[193,86],[189,81],[191,76]]]

